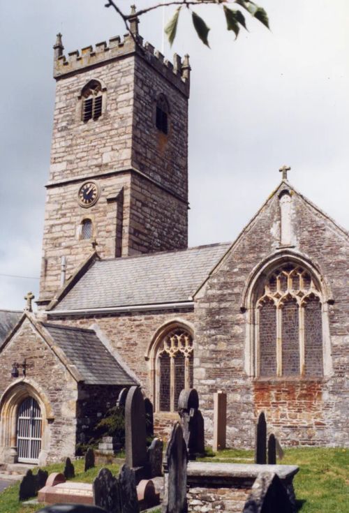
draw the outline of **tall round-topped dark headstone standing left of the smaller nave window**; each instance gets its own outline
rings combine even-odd
[[[140,387],[128,390],[125,405],[126,465],[130,468],[147,465],[144,399]]]

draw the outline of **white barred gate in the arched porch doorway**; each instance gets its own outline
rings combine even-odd
[[[17,418],[18,461],[38,463],[41,449],[41,410],[33,397],[28,397],[20,406]]]

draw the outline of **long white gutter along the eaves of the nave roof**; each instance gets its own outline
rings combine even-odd
[[[149,310],[169,310],[171,308],[193,308],[193,301],[180,303],[158,303],[158,304],[136,304],[131,306],[111,306],[110,308],[80,308],[78,310],[45,310],[43,313],[50,317],[59,317],[61,315],[89,315],[91,313],[122,313],[122,312],[141,312]]]

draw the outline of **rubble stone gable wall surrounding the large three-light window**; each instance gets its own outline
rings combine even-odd
[[[230,446],[253,446],[261,411],[281,445],[348,445],[348,385],[344,377],[349,363],[348,236],[293,192],[290,251],[318,266],[331,290],[334,304],[325,305],[325,324],[332,357],[327,355],[326,375],[320,379],[262,379],[246,373],[251,359],[251,311],[240,310],[242,296],[253,269],[283,249],[279,249],[279,241],[279,199],[274,195],[237,239],[195,302],[194,386],[205,410],[207,438],[212,435],[213,394],[221,389],[228,394]]]

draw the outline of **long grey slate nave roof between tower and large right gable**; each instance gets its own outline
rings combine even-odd
[[[98,260],[53,311],[187,302],[229,247],[211,244]]]

